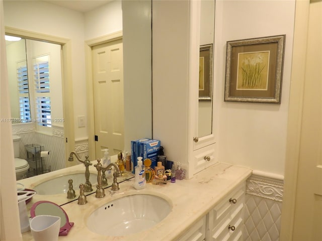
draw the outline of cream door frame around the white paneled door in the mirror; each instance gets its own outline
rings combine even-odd
[[[89,136],[89,159],[95,160],[95,123],[94,123],[94,88],[93,88],[93,62],[92,62],[92,47],[123,39],[123,31],[117,31],[108,35],[97,37],[85,41],[85,66],[86,66],[86,87],[87,87],[87,124]]]

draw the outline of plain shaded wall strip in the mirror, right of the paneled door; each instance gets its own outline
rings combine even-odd
[[[152,137],[151,2],[123,1],[124,150]]]

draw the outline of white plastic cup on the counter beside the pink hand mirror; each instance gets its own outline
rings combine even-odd
[[[60,217],[38,215],[31,219],[30,229],[35,241],[57,241],[60,229]]]

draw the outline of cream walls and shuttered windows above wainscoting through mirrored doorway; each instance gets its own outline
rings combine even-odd
[[[63,126],[60,45],[30,39],[6,44],[14,123]]]

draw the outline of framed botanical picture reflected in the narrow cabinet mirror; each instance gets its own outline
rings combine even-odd
[[[212,44],[200,46],[199,101],[212,98]]]

